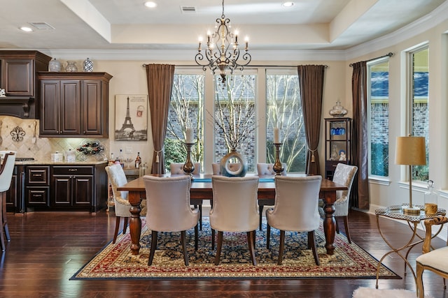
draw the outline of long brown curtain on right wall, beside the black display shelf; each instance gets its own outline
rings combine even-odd
[[[369,167],[367,131],[367,64],[365,61],[353,64],[351,77],[353,94],[353,165],[358,166],[358,174],[353,180],[350,205],[359,209],[369,209]]]

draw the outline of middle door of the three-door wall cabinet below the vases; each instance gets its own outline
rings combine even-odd
[[[61,80],[60,122],[62,135],[80,135],[80,81]]]

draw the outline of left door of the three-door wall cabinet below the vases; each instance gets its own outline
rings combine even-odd
[[[41,80],[41,121],[40,135],[58,135],[60,81]]]

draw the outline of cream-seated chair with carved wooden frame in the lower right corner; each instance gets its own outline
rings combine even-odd
[[[431,227],[433,225],[443,225],[448,223],[446,216],[439,215],[434,218],[429,218],[424,221],[426,236],[423,241],[423,254],[416,258],[416,288],[417,296],[419,298],[425,297],[423,289],[423,271],[433,271],[435,274],[442,276],[443,288],[446,289],[445,279],[448,278],[448,246],[436,248],[431,251],[431,239],[433,234]]]

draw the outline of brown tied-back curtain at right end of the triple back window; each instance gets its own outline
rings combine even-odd
[[[301,65],[297,67],[300,98],[307,140],[306,174],[321,174],[318,144],[321,131],[324,65]]]

